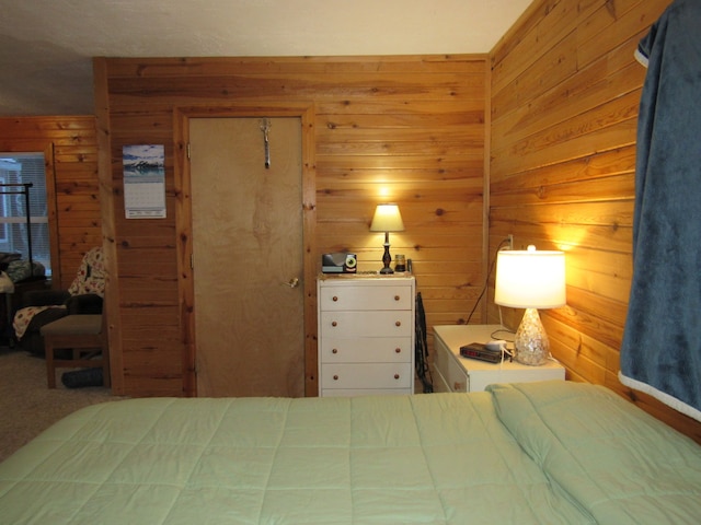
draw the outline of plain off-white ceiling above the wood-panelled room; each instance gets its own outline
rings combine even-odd
[[[0,0],[0,116],[93,114],[92,57],[489,52],[532,0]]]

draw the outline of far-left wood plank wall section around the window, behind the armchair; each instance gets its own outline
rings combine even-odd
[[[0,151],[46,152],[47,198],[55,201],[49,223],[57,238],[53,287],[66,289],[85,252],[102,244],[95,117],[2,117]]]

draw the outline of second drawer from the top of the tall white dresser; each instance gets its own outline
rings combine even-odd
[[[319,331],[326,337],[411,336],[413,313],[407,310],[382,312],[321,312]]]

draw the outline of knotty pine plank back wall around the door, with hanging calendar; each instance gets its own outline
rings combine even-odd
[[[463,323],[484,282],[487,68],[486,56],[96,59],[118,287],[115,390],[182,392],[173,185],[181,106],[313,103],[318,270],[322,253],[341,250],[358,254],[360,271],[379,269],[383,235],[369,224],[378,202],[395,201],[406,230],[392,234],[392,253],[413,259],[428,325]],[[165,220],[124,219],[122,147],[134,143],[165,144]]]

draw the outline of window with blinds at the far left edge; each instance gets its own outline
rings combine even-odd
[[[48,207],[44,153],[0,152],[0,252],[22,254],[28,260],[27,200],[28,188],[32,260],[42,264],[46,276],[51,275]]]

